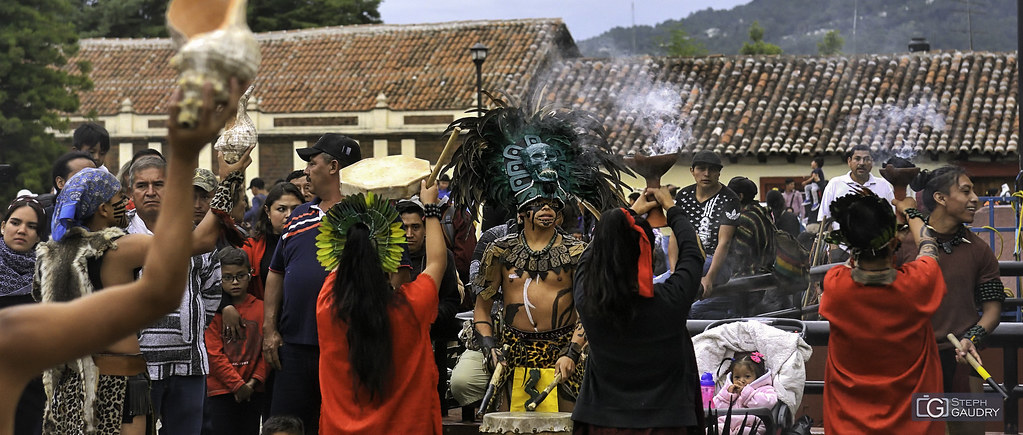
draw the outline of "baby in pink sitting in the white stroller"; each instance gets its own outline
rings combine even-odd
[[[714,396],[715,408],[754,408],[774,407],[777,403],[777,393],[771,373],[764,363],[764,355],[753,351],[737,353],[727,371],[727,381]],[[733,416],[730,419],[719,417],[720,433],[752,434],[754,431],[763,435],[767,428],[759,418]],[[725,426],[730,426],[725,429]]]

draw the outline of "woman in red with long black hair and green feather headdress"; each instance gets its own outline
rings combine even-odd
[[[430,325],[447,249],[437,186],[424,182],[420,200],[427,264],[400,289],[391,287],[388,273],[397,270],[405,237],[386,200],[348,197],[320,225],[318,242],[332,242],[328,250],[343,247],[320,256],[326,266],[337,264],[316,301],[321,434],[441,433]]]

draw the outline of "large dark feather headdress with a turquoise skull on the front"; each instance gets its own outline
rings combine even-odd
[[[448,126],[464,136],[448,165],[455,204],[474,218],[482,202],[522,208],[540,198],[565,204],[576,197],[595,210],[624,206],[621,173],[631,172],[611,153],[595,116],[551,107],[530,114],[487,96],[496,108]]]

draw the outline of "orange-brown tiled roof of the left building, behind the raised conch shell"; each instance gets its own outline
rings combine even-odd
[[[520,95],[537,71],[578,49],[559,18],[367,25],[258,34],[263,63],[256,96],[266,113],[357,112],[384,93],[393,110],[463,110],[476,98],[469,47],[490,48],[485,89]],[[92,63],[95,87],[81,114],[164,113],[177,73],[169,39],[86,39],[69,64]]]

